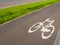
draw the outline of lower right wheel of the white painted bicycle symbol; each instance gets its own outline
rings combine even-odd
[[[47,28],[52,28],[52,31],[50,30],[51,33],[50,33],[48,36],[45,35],[45,33],[50,32],[49,29],[47,29]],[[54,26],[51,25],[51,26],[48,26],[47,28],[44,28],[44,27],[43,27],[43,28],[41,29],[41,31],[42,31],[42,38],[43,38],[43,39],[48,39],[48,38],[50,38],[50,37],[52,36],[52,34],[54,33],[54,30],[55,30]],[[45,31],[44,31],[44,30],[45,30]]]

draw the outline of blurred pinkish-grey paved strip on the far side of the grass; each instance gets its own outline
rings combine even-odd
[[[0,8],[6,8],[6,7],[26,4],[30,2],[37,2],[37,1],[42,1],[42,0],[0,0]]]

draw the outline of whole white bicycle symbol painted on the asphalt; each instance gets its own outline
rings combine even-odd
[[[44,26],[45,22],[48,22],[48,24],[46,24]],[[55,27],[52,25],[52,23],[54,23],[54,22],[55,22],[55,20],[51,21],[50,18],[46,19],[44,22],[38,22],[29,28],[28,33],[33,33],[42,27],[42,29],[40,30],[40,31],[42,31],[42,39],[48,39],[54,33]],[[35,28],[35,29],[33,29],[33,28]],[[52,28],[52,29],[49,29],[49,28]],[[50,34],[48,36],[45,35],[45,33],[47,33],[47,32],[50,32]]]

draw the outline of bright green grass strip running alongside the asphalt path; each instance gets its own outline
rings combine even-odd
[[[48,6],[55,2],[57,2],[57,0],[47,0],[43,2],[33,2],[29,4],[0,9],[0,24],[3,24],[17,17],[21,17],[29,12]]]

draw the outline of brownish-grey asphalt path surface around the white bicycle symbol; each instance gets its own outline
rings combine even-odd
[[[54,32],[49,38],[42,38],[43,32],[40,31],[41,29],[28,33],[32,25],[44,22],[48,18],[55,21],[52,24],[55,28]],[[59,28],[60,3],[56,3],[0,26],[0,45],[53,45]],[[44,33],[48,36],[51,32]]]

